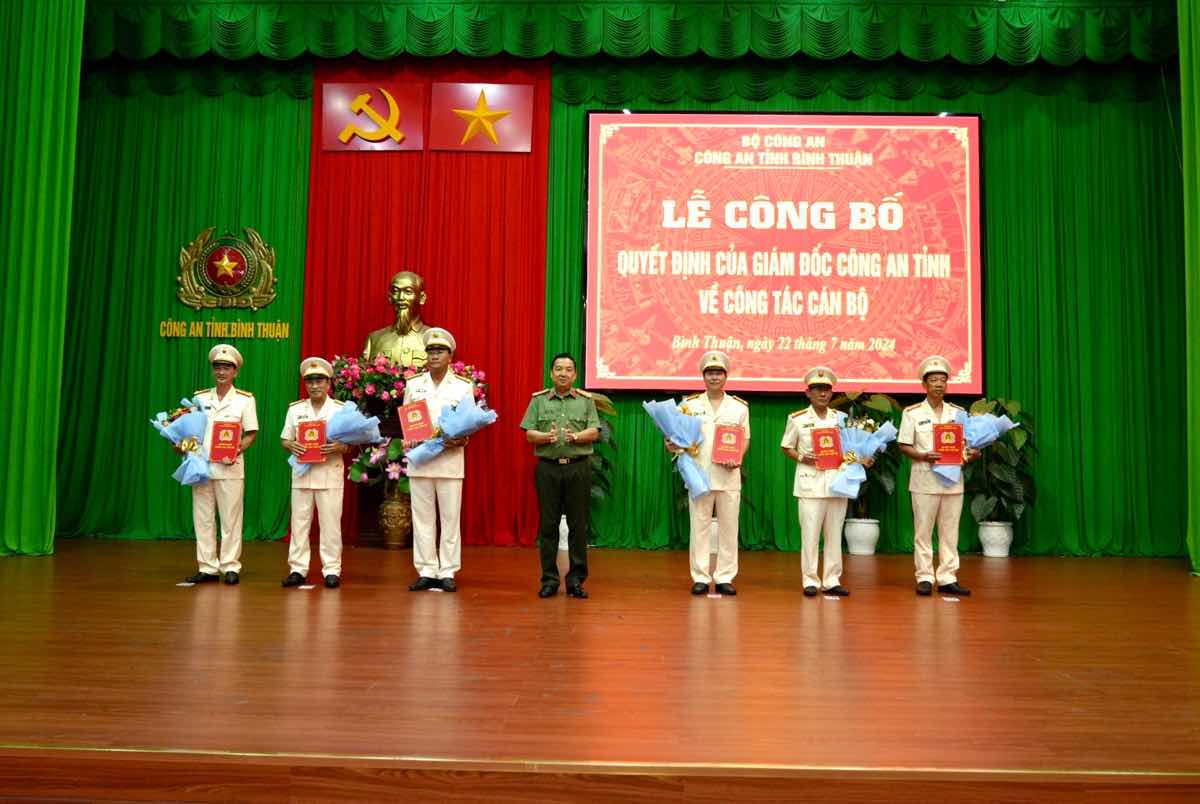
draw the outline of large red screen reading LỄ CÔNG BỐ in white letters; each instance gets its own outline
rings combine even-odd
[[[983,385],[974,116],[593,114],[587,384]]]

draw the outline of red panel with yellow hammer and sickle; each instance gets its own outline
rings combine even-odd
[[[415,83],[324,84],[320,146],[326,151],[425,148],[425,86]]]

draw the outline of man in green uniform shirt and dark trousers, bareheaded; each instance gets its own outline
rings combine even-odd
[[[529,400],[521,430],[526,440],[535,444],[538,456],[534,486],[538,488],[538,526],[541,552],[541,589],[539,598],[558,594],[558,523],[566,515],[568,556],[566,594],[587,598],[583,582],[588,577],[588,500],[592,498],[592,444],[600,438],[600,416],[592,395],[574,388],[575,358],[554,355],[550,364],[553,386],[538,391]]]

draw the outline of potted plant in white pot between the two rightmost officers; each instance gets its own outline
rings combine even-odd
[[[900,403],[887,394],[866,395],[862,391],[839,394],[829,407],[846,414],[846,424],[874,431],[884,421],[895,422]],[[846,552],[851,556],[874,556],[880,541],[880,521],[871,516],[870,500],[880,496],[890,497],[896,490],[896,473],[900,470],[900,450],[895,442],[875,456],[875,463],[866,469],[866,482],[857,499],[850,502],[846,517]]]

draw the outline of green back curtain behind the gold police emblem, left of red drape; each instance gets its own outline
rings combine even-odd
[[[290,484],[277,438],[299,395],[312,121],[307,100],[242,91],[260,86],[252,73],[262,68],[228,66],[206,83],[200,73],[211,65],[161,64],[154,84],[174,94],[115,66],[122,74],[85,80],[59,440],[64,535],[192,535],[191,494],[170,479],[179,458],[149,420],[211,385],[206,355],[220,341],[245,358],[235,385],[254,394],[262,427],[246,455],[245,535],[287,529]],[[282,85],[311,83],[307,66],[292,70]],[[239,236],[251,227],[275,247],[272,304],[193,312],[175,298],[180,250],[210,226]],[[290,331],[287,340],[170,338],[160,334],[164,320],[283,322]]]

